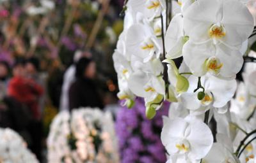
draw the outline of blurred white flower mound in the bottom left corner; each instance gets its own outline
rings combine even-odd
[[[0,129],[0,162],[38,163],[24,139],[12,129]]]

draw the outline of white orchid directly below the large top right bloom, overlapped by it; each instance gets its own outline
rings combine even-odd
[[[189,39],[183,48],[184,61],[195,76],[210,73],[219,78],[233,79],[243,66],[243,56],[239,50],[211,42],[196,45]]]

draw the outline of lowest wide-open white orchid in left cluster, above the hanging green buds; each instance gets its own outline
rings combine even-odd
[[[165,94],[163,77],[154,76],[154,74],[136,71],[131,74],[129,89],[139,97],[144,97],[146,101],[154,101],[157,96]]]

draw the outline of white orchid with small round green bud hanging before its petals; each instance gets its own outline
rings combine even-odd
[[[196,76],[189,76],[189,89],[186,93],[180,96],[182,104],[185,108],[193,111],[204,113],[210,108],[220,108],[220,112],[227,111],[226,104],[236,92],[236,80],[221,80],[214,76],[203,76],[201,78],[201,85],[205,90],[194,90],[198,85],[198,78]],[[198,99],[198,93],[204,91],[204,97]]]

